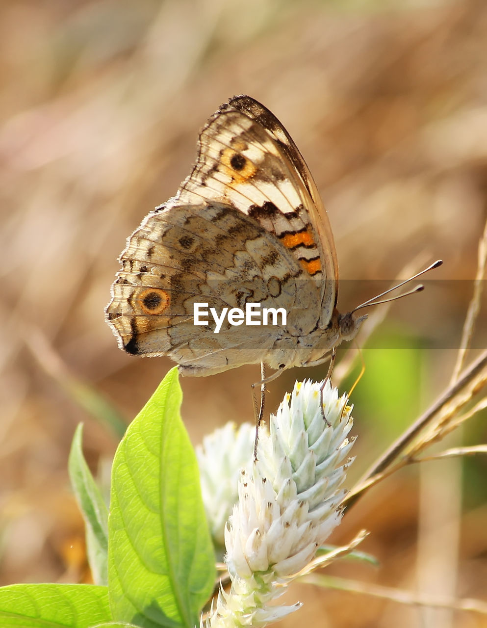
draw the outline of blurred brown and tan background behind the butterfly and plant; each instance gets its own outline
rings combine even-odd
[[[88,462],[106,480],[120,424],[173,365],[117,349],[104,323],[117,256],[176,192],[200,127],[234,94],[269,107],[308,162],[334,231],[341,311],[444,259],[363,350],[350,483],[441,393],[487,215],[486,60],[484,0],[0,3],[1,585],[89,582],[67,475],[73,431],[85,422]],[[484,303],[477,351],[485,315]],[[286,372],[269,385],[268,411],[297,377],[325,374]],[[252,421],[258,380],[257,367],[183,379],[193,443]],[[449,446],[485,442],[485,418]],[[361,548],[380,566],[327,573],[486,602],[486,477],[478,456],[383,482],[330,539],[367,528]],[[287,595],[297,599],[286,625],[487,625],[304,585]]]

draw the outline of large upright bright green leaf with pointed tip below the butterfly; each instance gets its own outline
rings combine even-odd
[[[115,453],[109,517],[114,619],[193,628],[213,589],[215,557],[198,464],[172,369]]]

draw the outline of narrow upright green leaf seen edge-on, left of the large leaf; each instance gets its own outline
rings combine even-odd
[[[108,551],[108,509],[83,457],[83,424],[73,436],[68,470],[73,491],[86,524],[88,558],[95,583],[106,585]]]

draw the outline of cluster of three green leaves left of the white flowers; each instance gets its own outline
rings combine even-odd
[[[177,370],[164,378],[115,453],[110,516],[83,458],[69,460],[94,572],[108,586],[0,588],[2,628],[193,628],[215,581],[196,456],[179,416]],[[108,555],[108,563],[107,563]]]

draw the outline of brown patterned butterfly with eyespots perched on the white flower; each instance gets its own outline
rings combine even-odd
[[[318,365],[365,318],[336,309],[338,263],[316,184],[281,122],[247,95],[208,119],[191,174],[119,261],[105,314],[120,349],[168,355],[183,375]],[[250,324],[235,315],[249,304]],[[281,319],[259,324],[257,305]]]

